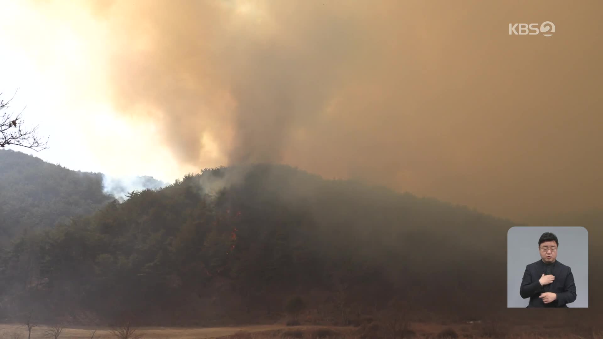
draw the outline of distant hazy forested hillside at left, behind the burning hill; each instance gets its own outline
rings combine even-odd
[[[90,215],[112,197],[100,173],[72,171],[28,154],[0,150],[0,244],[24,230]]]

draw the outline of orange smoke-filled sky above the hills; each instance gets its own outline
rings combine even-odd
[[[171,181],[270,161],[504,217],[603,208],[601,2],[82,4],[3,4],[2,89],[24,87],[52,162]]]

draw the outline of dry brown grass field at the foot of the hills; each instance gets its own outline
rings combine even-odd
[[[39,326],[33,329],[32,339],[42,339],[48,328]],[[93,328],[66,328],[60,339],[89,339]],[[411,323],[408,328],[391,328],[377,322],[364,324],[359,328],[339,326],[285,326],[257,325],[223,328],[140,328],[136,334],[150,339],[268,339],[268,338],[342,338],[342,339],[379,339],[379,338],[574,338],[603,339],[603,332],[593,326],[576,324],[560,328],[551,326],[510,326],[494,323]],[[25,339],[27,328],[20,325],[0,325],[0,339]],[[94,339],[115,338],[109,329],[98,329]]]

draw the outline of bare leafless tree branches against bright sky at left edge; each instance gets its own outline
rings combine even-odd
[[[0,93],[1,96],[2,93]],[[8,101],[0,100],[0,148],[16,145],[31,148],[34,151],[45,150],[48,148],[46,147],[47,142],[38,136],[37,126],[31,129],[24,127],[23,111],[17,115],[7,112],[13,98]]]

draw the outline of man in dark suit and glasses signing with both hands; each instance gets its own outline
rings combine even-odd
[[[572,269],[557,261],[559,241],[553,233],[538,239],[540,260],[526,266],[519,294],[529,298],[527,307],[567,307],[576,300]]]

